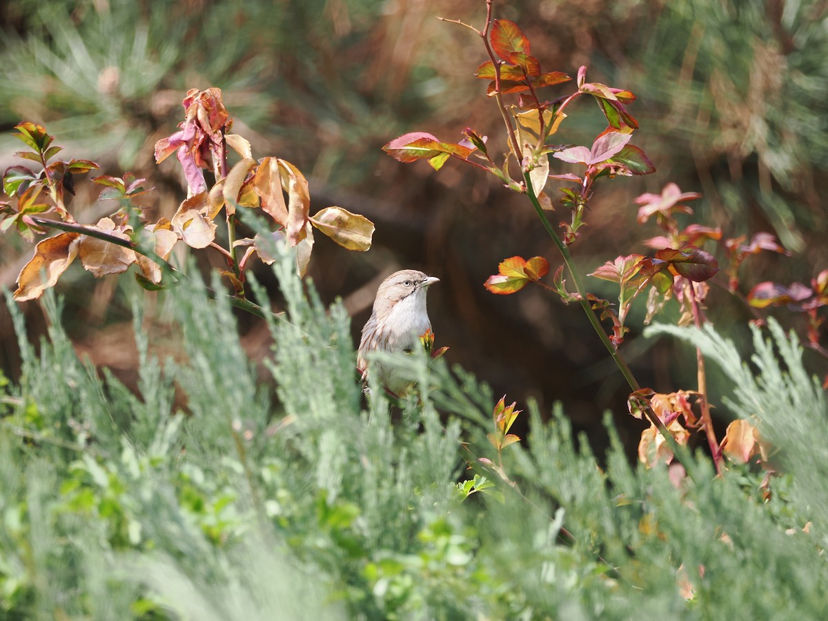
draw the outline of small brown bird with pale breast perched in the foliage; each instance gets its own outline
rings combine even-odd
[[[359,341],[357,368],[368,374],[365,355],[377,349],[388,352],[410,352],[419,344],[420,336],[431,330],[426,310],[428,287],[440,278],[426,276],[416,270],[401,270],[386,278],[377,290],[373,301],[371,318],[363,327]],[[399,369],[388,364],[373,361],[372,373],[378,373],[378,380],[394,394],[401,394],[412,383]]]

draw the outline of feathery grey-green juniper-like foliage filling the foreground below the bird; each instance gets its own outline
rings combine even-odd
[[[601,470],[560,408],[545,422],[530,405],[531,436],[498,462],[489,389],[426,356],[400,361],[421,399],[392,409],[378,393],[366,409],[342,306],[325,308],[290,257],[276,273],[287,312],[270,322],[264,383],[229,302],[195,280],[166,294],[184,359],[152,356],[136,305],[137,395],[77,359],[54,298],[37,348],[10,305],[24,371],[0,419],[4,618],[810,619],[828,607],[825,402],[777,328],[784,367],[757,337],[756,377],[711,331],[681,333],[777,442],[792,485],[778,479],[771,506],[748,472],[717,479],[705,458],[678,488],[667,469],[629,465],[609,421]],[[475,473],[493,486],[460,493]]]

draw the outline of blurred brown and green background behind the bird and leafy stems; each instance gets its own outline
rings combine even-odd
[[[522,26],[544,70],[574,76],[587,65],[591,81],[638,95],[630,107],[641,125],[634,142],[657,172],[595,186],[590,225],[573,248],[582,273],[619,254],[646,252],[642,240],[657,231],[636,223],[633,199],[669,181],[704,195],[688,224],[720,226],[729,237],[770,231],[792,252],[749,259],[743,293],[764,280],[807,283],[828,267],[826,2],[513,0],[495,2],[495,15]],[[539,287],[515,296],[484,290],[503,258],[542,255],[553,268],[560,263],[531,205],[459,162],[435,172],[381,151],[404,132],[455,142],[465,127],[505,151],[487,83],[473,75],[486,60],[479,39],[436,16],[482,26],[485,2],[3,3],[0,168],[21,163],[13,157],[19,143],[8,134],[31,120],[56,134],[67,155],[98,161],[103,174],[147,177],[156,188],[144,201],[149,215],[169,216],[185,196],[185,182],[174,158],[156,166],[153,145],[180,122],[187,89],[218,86],[234,131],[248,137],[254,156],[285,158],[306,174],[312,211],[339,205],[376,224],[368,253],[345,252],[320,235],[310,263],[323,300],[344,300],[355,341],[383,277],[420,268],[441,280],[429,306],[438,344],[450,345],[450,362],[520,404],[534,397],[548,411],[560,400],[597,445],[604,441],[601,412],[609,408],[634,450],[641,426],[625,413],[628,389],[580,308]],[[571,85],[554,89],[563,94]],[[574,112],[560,142],[589,145],[604,119],[591,101]],[[91,184],[76,185],[71,208],[80,222],[111,210],[95,200]],[[560,208],[553,216],[568,214]],[[31,252],[17,238],[0,238],[2,286],[13,288]],[[210,260],[221,264],[218,256],[202,260],[205,269]],[[275,289],[269,269],[256,272]],[[597,293],[612,294],[586,280]],[[128,277],[95,280],[79,266],[57,287],[77,349],[128,383],[137,357],[125,293],[135,287]],[[175,355],[162,296],[147,294],[145,304],[155,309],[147,314],[156,317],[156,346]],[[709,307],[720,330],[744,339],[752,315],[742,301],[714,287]],[[43,333],[41,307],[28,302],[25,310],[31,335]],[[780,310],[778,316],[801,327],[796,315]],[[630,320],[633,334],[624,345],[641,383],[664,392],[695,388],[691,353],[640,338],[642,317],[638,310]],[[267,330],[249,316],[239,320],[250,355],[266,355]],[[12,377],[16,351],[2,310],[0,362]],[[826,372],[816,356],[808,361],[815,373]],[[726,423],[726,409],[717,412]]]

